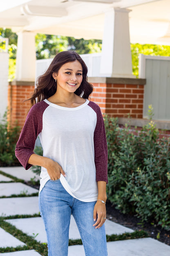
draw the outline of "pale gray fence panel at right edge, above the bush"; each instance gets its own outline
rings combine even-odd
[[[146,78],[143,117],[152,104],[154,119],[170,121],[170,57],[140,55],[139,78]]]

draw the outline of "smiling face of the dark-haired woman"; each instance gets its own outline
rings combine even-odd
[[[58,73],[53,73],[53,78],[57,80],[57,91],[75,92],[81,85],[82,74],[83,69],[78,60],[65,63],[60,67]]]

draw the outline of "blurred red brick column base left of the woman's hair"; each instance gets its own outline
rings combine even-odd
[[[31,97],[34,91],[34,82],[13,81],[8,87],[8,119],[13,125],[18,122],[20,128],[24,125],[27,111],[30,108],[30,101],[25,101]],[[25,102],[24,102],[25,101]]]

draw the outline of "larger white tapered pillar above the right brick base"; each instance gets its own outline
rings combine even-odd
[[[102,41],[101,75],[134,78],[130,49],[128,9],[110,9],[105,13]]]

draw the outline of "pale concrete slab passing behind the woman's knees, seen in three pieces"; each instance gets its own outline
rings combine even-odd
[[[45,233],[45,227],[41,217],[35,218],[24,218],[24,219],[9,219],[6,220],[12,225],[16,226],[17,229],[22,230],[22,232],[28,235],[36,236],[36,240],[40,242],[47,242],[47,237]],[[132,229],[125,228],[119,224],[116,224],[110,220],[106,220],[105,229],[107,235],[112,234],[122,234],[125,232],[133,232]],[[71,215],[70,228],[69,228],[69,238],[70,239],[80,239],[80,233],[78,231],[74,217]]]

